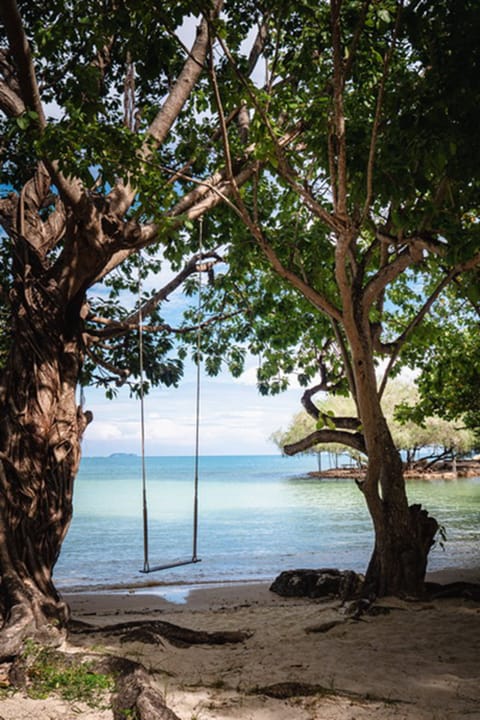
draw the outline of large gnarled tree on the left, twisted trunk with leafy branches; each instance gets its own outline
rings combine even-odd
[[[91,420],[76,399],[79,381],[129,380],[138,390],[140,321],[147,380],[172,384],[181,375],[172,334],[188,327],[169,327],[159,308],[218,261],[212,242],[198,250],[192,221],[231,194],[210,110],[221,5],[198,4],[187,47],[182,25],[192,22],[191,3],[1,4],[4,657],[26,635],[61,635],[68,619],[52,569]],[[235,47],[260,18],[246,5],[230,10]],[[262,38],[244,55],[247,75]],[[229,172],[241,186],[261,163],[241,140],[241,106],[227,124],[239,138]],[[123,307],[138,276],[158,271],[162,259],[174,277]]]

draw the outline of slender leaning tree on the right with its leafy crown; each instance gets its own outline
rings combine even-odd
[[[263,255],[312,315],[330,324],[316,346],[321,382],[305,396],[318,426],[288,452],[340,442],[368,455],[362,490],[375,548],[366,587],[419,595],[437,523],[408,505],[381,397],[443,291],[480,262],[478,13],[468,0],[455,8],[332,0],[290,13],[280,3],[270,23],[260,91],[242,76],[228,37],[221,39],[250,106],[257,156],[270,168],[250,191],[235,188],[229,174],[234,209],[253,239],[245,237],[236,271],[251,280],[248,257],[258,268]],[[228,118],[220,92],[216,99]],[[234,145],[220,124],[228,158]],[[278,139],[285,127],[300,133],[287,147]],[[238,258],[230,260],[232,271]],[[291,336],[299,315],[283,324],[281,315],[277,322],[288,323]],[[377,383],[376,365],[385,358]],[[311,397],[331,389],[329,371],[339,363],[356,412],[327,418]],[[268,365],[262,383],[275,376]]]

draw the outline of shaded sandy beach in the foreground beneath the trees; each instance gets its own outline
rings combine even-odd
[[[435,582],[480,582],[443,571]],[[480,604],[385,598],[352,619],[339,601],[282,598],[266,584],[158,588],[67,596],[73,617],[101,628],[64,649],[129,657],[153,672],[181,720],[480,719]],[[160,620],[199,631],[242,631],[242,642],[179,645],[109,633]],[[22,693],[0,701],[2,720],[112,720],[110,708]]]

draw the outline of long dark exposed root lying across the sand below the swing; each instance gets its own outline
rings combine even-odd
[[[222,630],[218,632],[205,632],[204,630],[191,630],[172,623],[160,620],[139,620],[115,625],[99,627],[87,623],[71,622],[71,633],[92,635],[119,635],[122,642],[142,642],[162,645],[163,640],[176,647],[190,647],[191,645],[225,645],[227,643],[241,643],[252,636],[248,630]]]

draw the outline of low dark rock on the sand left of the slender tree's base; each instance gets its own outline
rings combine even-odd
[[[363,577],[352,570],[285,570],[275,578],[270,590],[282,597],[331,598],[355,596]]]

